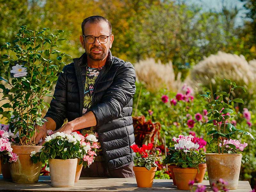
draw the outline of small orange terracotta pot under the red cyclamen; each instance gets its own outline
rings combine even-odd
[[[145,167],[133,166],[136,182],[138,187],[152,187],[157,167],[147,170]]]

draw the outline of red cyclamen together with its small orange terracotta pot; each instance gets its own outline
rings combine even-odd
[[[157,167],[156,161],[158,160],[158,157],[150,154],[153,144],[148,143],[148,145],[142,145],[140,148],[134,144],[131,148],[136,153],[136,156],[133,156],[133,171],[137,186],[152,187]]]

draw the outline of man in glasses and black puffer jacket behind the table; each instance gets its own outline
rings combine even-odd
[[[80,42],[85,53],[63,68],[45,122],[38,127],[36,142],[47,130],[96,133],[100,150],[95,162],[81,176],[134,177],[135,138],[132,126],[132,97],[135,71],[131,63],[111,55],[112,27],[101,16],[82,22]],[[68,123],[63,124],[64,119]]]

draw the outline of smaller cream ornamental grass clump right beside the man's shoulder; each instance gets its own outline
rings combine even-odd
[[[167,64],[162,64],[161,61],[156,63],[153,58],[150,58],[135,63],[134,68],[136,80],[143,82],[151,92],[157,92],[163,88],[177,92],[181,87],[181,73],[175,78],[171,61]]]

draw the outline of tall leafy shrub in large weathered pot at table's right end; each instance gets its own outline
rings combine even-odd
[[[243,151],[246,144],[241,144],[236,140],[235,135],[249,135],[253,140],[254,137],[249,132],[236,129],[233,124],[228,122],[234,113],[232,104],[234,102],[244,103],[240,98],[230,100],[230,94],[235,89],[242,89],[245,92],[245,88],[237,86],[229,79],[224,79],[224,82],[229,85],[229,90],[228,92],[216,92],[214,94],[216,99],[211,100],[211,92],[200,95],[207,98],[210,107],[207,110],[209,121],[204,123],[208,132],[207,141],[210,144],[217,144],[212,150],[214,153],[205,154],[205,157],[210,184],[212,185],[222,178],[228,182],[228,189],[236,189],[242,160],[240,152]]]

